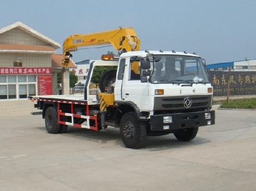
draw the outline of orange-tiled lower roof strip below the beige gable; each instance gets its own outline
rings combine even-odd
[[[54,47],[32,44],[1,44],[0,52],[15,52],[15,53],[55,53]]]

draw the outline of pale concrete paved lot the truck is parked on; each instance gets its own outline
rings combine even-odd
[[[41,116],[0,117],[0,190],[256,190],[256,111],[217,110],[191,142],[118,129],[48,134]]]

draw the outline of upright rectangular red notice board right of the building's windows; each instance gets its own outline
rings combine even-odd
[[[38,96],[52,94],[52,76],[38,76]]]

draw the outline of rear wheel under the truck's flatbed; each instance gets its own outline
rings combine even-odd
[[[48,133],[56,134],[60,132],[57,111],[53,107],[48,107],[46,109],[45,123]]]

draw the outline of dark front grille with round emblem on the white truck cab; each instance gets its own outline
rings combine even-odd
[[[184,99],[188,96],[180,97],[156,97],[154,100],[154,110],[180,110],[188,109],[184,107]],[[192,105],[189,109],[193,108],[206,108],[210,107],[212,97],[206,96],[189,96],[192,101]]]

